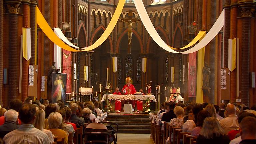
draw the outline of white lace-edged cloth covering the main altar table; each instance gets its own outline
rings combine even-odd
[[[106,94],[103,95],[101,102],[105,101],[106,96]],[[149,100],[156,102],[156,98],[154,95],[108,95],[109,100],[147,100],[147,98],[149,98]]]

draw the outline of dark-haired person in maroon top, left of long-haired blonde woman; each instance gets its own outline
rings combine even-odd
[[[198,136],[201,132],[204,119],[206,117],[211,117],[210,113],[206,110],[201,110],[197,115],[196,127],[191,131],[192,136]]]

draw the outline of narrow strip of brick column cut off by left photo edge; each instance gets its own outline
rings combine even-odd
[[[4,16],[3,16],[3,1],[0,1],[0,104],[2,105],[2,94],[3,94],[3,20],[4,20]]]

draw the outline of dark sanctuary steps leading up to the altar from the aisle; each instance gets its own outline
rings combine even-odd
[[[107,121],[118,123],[118,133],[150,133],[149,114],[110,113]],[[113,127],[116,129],[115,125]]]

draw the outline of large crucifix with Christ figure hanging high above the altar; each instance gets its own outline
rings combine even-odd
[[[132,10],[129,10],[128,19],[120,19],[121,22],[128,24],[128,54],[131,53],[131,42],[132,42],[132,24],[141,22],[141,20],[132,19],[133,13]]]

